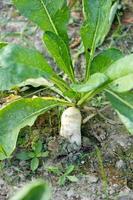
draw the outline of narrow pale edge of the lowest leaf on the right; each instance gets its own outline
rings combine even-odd
[[[133,135],[133,122],[131,122],[127,117],[124,115],[121,115],[119,112],[117,112],[119,118],[121,119],[122,123],[125,125],[127,130]]]

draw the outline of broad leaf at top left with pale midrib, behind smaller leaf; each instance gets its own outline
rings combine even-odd
[[[66,0],[13,0],[17,9],[42,30],[60,35],[67,43],[69,10]]]

